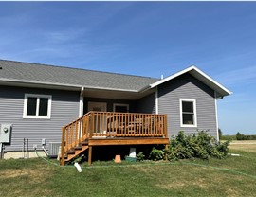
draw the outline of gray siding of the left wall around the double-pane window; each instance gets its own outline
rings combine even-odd
[[[23,118],[25,93],[51,95],[51,118]],[[72,91],[0,86],[0,124],[13,124],[6,151],[22,151],[24,138],[28,138],[30,150],[33,144],[40,149],[43,138],[46,148],[48,142],[61,142],[62,127],[79,116],[79,97],[79,92]]]

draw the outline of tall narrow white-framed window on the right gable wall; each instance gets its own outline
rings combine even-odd
[[[180,99],[180,126],[197,127],[195,99]]]

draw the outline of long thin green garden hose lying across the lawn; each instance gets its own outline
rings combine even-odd
[[[35,150],[36,154],[38,157],[44,159],[47,163],[52,164],[56,167],[61,167],[61,168],[75,168],[74,166],[71,165],[66,165],[66,166],[61,166],[59,164],[56,164],[54,162],[51,162],[49,160],[47,160],[45,157],[41,156],[38,154],[38,152]],[[165,162],[165,163],[148,163],[148,164],[130,164],[130,165],[111,165],[111,166],[88,166],[88,167],[81,167],[82,169],[86,168],[86,169],[102,169],[102,168],[120,168],[120,167],[140,167],[140,166],[159,166],[159,165],[192,165],[192,166],[198,166],[198,167],[203,167],[203,168],[210,168],[210,169],[214,169],[214,170],[223,170],[223,171],[228,171],[228,172],[232,172],[232,173],[236,173],[236,174],[240,174],[240,175],[244,175],[247,177],[251,177],[256,179],[255,175],[251,175],[251,174],[247,174],[245,172],[242,171],[237,171],[237,170],[230,170],[230,169],[225,169],[225,168],[220,168],[220,167],[214,167],[214,166],[209,166],[209,165],[204,165],[204,164],[198,164],[198,163],[193,163],[193,162]]]

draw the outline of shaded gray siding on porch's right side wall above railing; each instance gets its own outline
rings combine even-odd
[[[137,113],[155,114],[155,93],[137,100]]]

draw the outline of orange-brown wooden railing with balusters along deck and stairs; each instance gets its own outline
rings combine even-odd
[[[167,116],[89,112],[63,127],[62,156],[88,138],[167,137]]]

